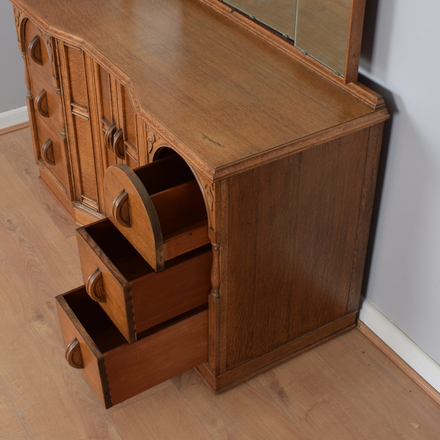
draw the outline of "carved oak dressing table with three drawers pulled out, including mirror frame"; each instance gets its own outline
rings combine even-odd
[[[40,176],[77,230],[57,297],[106,407],[221,392],[355,325],[383,122],[344,71],[217,0],[13,0]]]

